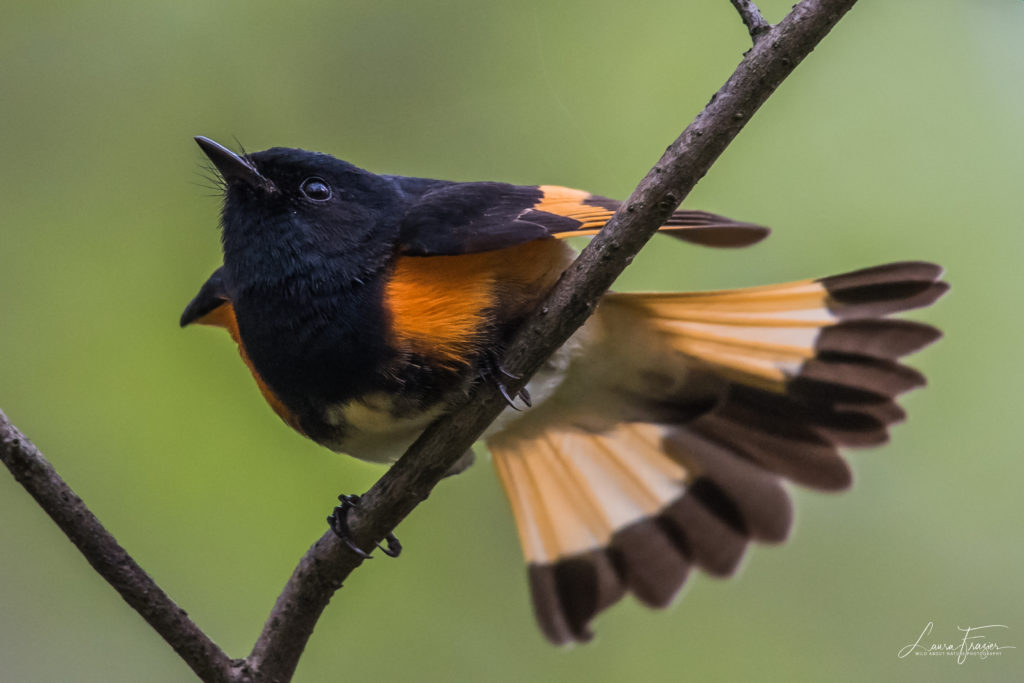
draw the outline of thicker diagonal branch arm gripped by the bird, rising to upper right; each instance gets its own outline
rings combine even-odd
[[[856,0],[804,0],[755,43],[726,84],[666,151],[607,226],[523,324],[503,366],[520,375],[514,393],[579,328],[597,299],[676,209],[746,121]],[[349,527],[374,548],[419,503],[506,408],[498,389],[480,384],[466,403],[431,425],[362,497]],[[359,559],[327,532],[302,558],[250,655],[259,677],[288,680],[327,601]],[[263,680],[260,678],[259,680]]]

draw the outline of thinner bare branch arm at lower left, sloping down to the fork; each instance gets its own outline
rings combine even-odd
[[[39,449],[0,411],[0,461],[85,556],[204,681],[234,680],[234,665],[128,555]]]

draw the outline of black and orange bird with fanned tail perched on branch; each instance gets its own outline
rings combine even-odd
[[[474,383],[504,387],[502,349],[572,261],[566,239],[596,233],[620,206],[195,139],[223,189],[223,264],[180,325],[226,330],[286,424],[370,462],[394,462]],[[694,210],[659,231],[715,248],[769,233]],[[902,261],[606,293],[482,436],[544,636],[586,642],[627,594],[660,608],[693,570],[734,573],[751,543],[786,538],[791,484],[848,487],[841,450],[888,440],[905,417],[898,396],[925,384],[900,358],[941,336],[891,315],[937,300],[942,274]]]

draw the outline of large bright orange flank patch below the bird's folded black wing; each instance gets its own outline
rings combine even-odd
[[[391,342],[465,365],[495,324],[522,315],[558,279],[571,252],[540,240],[477,254],[402,256],[387,286]]]

